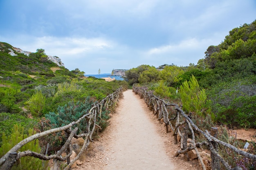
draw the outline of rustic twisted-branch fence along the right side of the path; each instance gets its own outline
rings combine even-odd
[[[144,92],[145,90],[142,90],[141,88],[138,87],[133,87],[134,91],[136,94],[141,94],[142,92]],[[148,92],[147,92],[148,93]],[[256,155],[253,155],[249,152],[245,152],[243,150],[240,150],[234,146],[232,146],[231,144],[227,144],[223,141],[220,141],[217,139],[218,136],[218,128],[211,128],[211,133],[208,132],[207,130],[206,133],[203,132],[201,129],[198,128],[198,126],[196,126],[193,121],[191,120],[192,118],[192,113],[189,113],[189,115],[186,115],[184,113],[184,111],[182,110],[182,106],[179,106],[178,104],[166,104],[165,102],[163,102],[163,99],[160,99],[159,97],[156,97],[155,95],[149,95],[148,97],[153,97],[153,99],[150,99],[150,101],[155,101],[155,103],[153,104],[153,113],[154,115],[156,115],[157,120],[159,121],[159,123],[161,123],[161,119],[164,119],[164,123],[166,126],[166,133],[168,132],[168,124],[171,126],[172,130],[173,130],[173,135],[174,135],[174,143],[177,144],[177,134],[180,135],[181,139],[180,139],[180,146],[181,146],[181,150],[178,150],[175,153],[175,157],[177,157],[180,154],[184,154],[185,159],[188,159],[188,156],[186,154],[186,152],[188,152],[189,150],[195,149],[197,155],[198,155],[198,159],[200,160],[200,163],[202,164],[202,168],[205,170],[205,166],[204,163],[202,161],[202,159],[200,159],[200,154],[197,150],[196,147],[199,147],[201,145],[207,145],[209,146],[210,150],[211,150],[211,168],[213,170],[220,170],[220,163],[222,163],[222,165],[225,167],[225,169],[230,169],[230,170],[242,170],[240,167],[235,167],[235,168],[231,168],[231,166],[225,161],[224,158],[221,157],[221,155],[218,153],[218,144],[225,146],[227,148],[230,148],[232,151],[236,152],[239,155],[242,155],[246,158],[252,159],[254,161],[256,161]],[[156,108],[157,106],[157,108]],[[174,120],[176,119],[176,117],[169,119],[168,116],[168,111],[166,109],[165,106],[175,106],[175,110],[178,111],[178,113],[180,113],[184,119],[186,119],[185,121],[180,122],[179,121],[179,114],[177,114],[177,121],[176,121],[176,125],[175,128],[173,129],[173,126],[170,122],[170,120]],[[164,110],[163,110],[164,108]],[[163,115],[164,114],[164,115]],[[167,120],[167,121],[166,121]],[[179,130],[179,126],[180,125],[184,125],[184,129],[183,129],[183,133],[180,133]],[[193,146],[187,146],[187,139],[188,139],[188,133],[190,132],[189,129],[191,130],[191,134],[192,134],[192,143]],[[201,135],[203,135],[207,141],[203,141],[203,142],[198,142],[195,143],[195,133],[194,130],[196,130],[198,133],[200,133]]]

